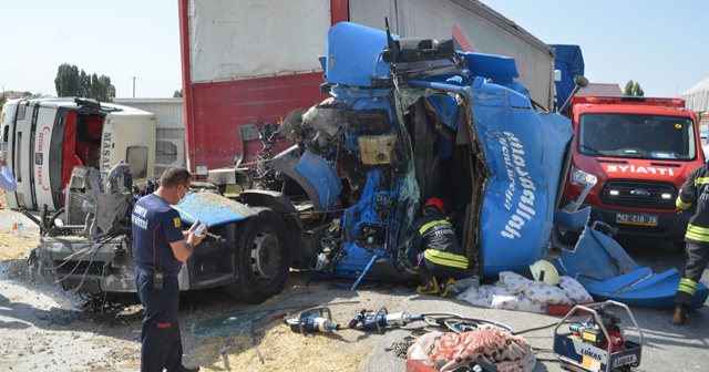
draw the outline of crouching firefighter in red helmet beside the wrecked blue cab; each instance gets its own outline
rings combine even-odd
[[[417,287],[419,294],[449,297],[455,291],[455,279],[470,276],[467,258],[443,210],[443,202],[432,197],[423,206],[423,217],[413,225],[414,235],[408,256],[424,282]],[[439,287],[436,277],[448,278],[443,289]]]

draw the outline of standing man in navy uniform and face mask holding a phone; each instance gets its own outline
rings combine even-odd
[[[183,231],[179,214],[172,207],[191,194],[191,184],[189,170],[167,167],[157,190],[138,199],[133,207],[135,286],[145,307],[141,331],[142,372],[199,371],[198,366],[182,365],[177,273],[206,236],[206,229],[195,235],[196,221]]]

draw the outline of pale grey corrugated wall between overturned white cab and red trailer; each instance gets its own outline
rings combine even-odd
[[[168,165],[185,165],[185,120],[182,99],[114,99],[113,103],[155,114],[155,176]]]

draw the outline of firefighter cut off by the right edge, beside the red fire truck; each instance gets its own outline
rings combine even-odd
[[[705,164],[691,173],[679,190],[677,208],[687,210],[696,204],[696,210],[689,218],[686,255],[687,264],[675,294],[675,314],[672,323],[684,324],[689,321],[687,310],[691,303],[701,273],[709,262],[709,164]]]

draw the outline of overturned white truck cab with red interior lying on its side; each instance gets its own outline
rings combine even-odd
[[[58,210],[74,166],[102,175],[120,162],[138,184],[153,178],[155,115],[93,100],[11,100],[2,107],[2,153],[18,188],[12,209]]]

